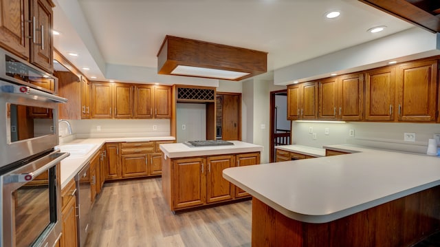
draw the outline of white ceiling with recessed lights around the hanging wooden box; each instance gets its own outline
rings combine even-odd
[[[124,71],[157,67],[169,34],[268,52],[267,70],[378,39],[413,25],[357,0],[54,0],[54,46],[88,77],[152,83]],[[339,10],[340,17],[325,13]],[[366,32],[386,25],[384,32]],[[78,57],[68,52],[78,52]],[[110,66],[111,65],[111,66]],[[89,71],[82,68],[89,67]]]

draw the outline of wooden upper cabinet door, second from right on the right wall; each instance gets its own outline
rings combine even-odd
[[[393,121],[395,67],[372,69],[365,74],[365,120]]]

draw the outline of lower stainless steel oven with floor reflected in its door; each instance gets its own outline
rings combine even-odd
[[[56,244],[62,230],[60,162],[68,155],[51,149],[0,175],[0,246]]]

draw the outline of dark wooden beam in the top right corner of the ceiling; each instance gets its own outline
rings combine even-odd
[[[440,32],[440,1],[359,0],[430,32]]]

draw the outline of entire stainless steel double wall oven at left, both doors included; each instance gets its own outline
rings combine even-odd
[[[0,247],[61,237],[58,80],[0,50]]]

